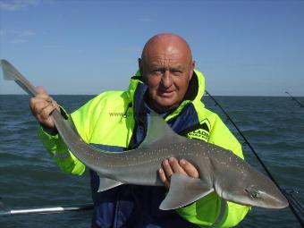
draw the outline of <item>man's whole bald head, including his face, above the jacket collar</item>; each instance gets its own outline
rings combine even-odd
[[[148,104],[158,112],[179,106],[193,69],[190,46],[183,38],[168,33],[150,38],[139,59],[142,80],[148,85]]]

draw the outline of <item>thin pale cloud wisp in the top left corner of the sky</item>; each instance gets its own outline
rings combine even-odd
[[[0,0],[0,10],[17,11],[46,2],[50,0]]]

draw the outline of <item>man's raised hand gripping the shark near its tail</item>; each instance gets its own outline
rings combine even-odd
[[[38,122],[49,131],[56,131],[55,124],[50,114],[59,106],[52,97],[49,97],[43,87],[37,87],[38,95],[30,98],[30,110]]]

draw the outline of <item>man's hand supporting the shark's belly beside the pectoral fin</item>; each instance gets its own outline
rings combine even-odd
[[[162,163],[162,168],[158,170],[159,178],[165,184],[165,188],[170,188],[170,178],[173,173],[184,174],[193,178],[198,178],[198,170],[194,165],[185,159],[178,161],[175,157],[165,159]]]

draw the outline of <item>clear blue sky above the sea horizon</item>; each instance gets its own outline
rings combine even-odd
[[[50,94],[127,89],[148,38],[185,38],[212,95],[304,96],[304,1],[0,0],[0,58]],[[23,94],[0,79],[0,94]]]

